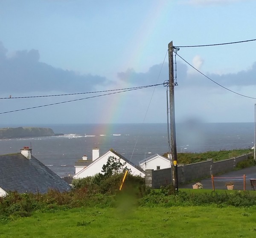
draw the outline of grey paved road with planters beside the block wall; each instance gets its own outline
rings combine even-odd
[[[246,176],[246,190],[251,190],[250,178],[256,178],[256,166],[252,166],[245,169],[240,169],[232,172],[225,173],[223,175],[214,175],[214,185],[215,189],[227,189],[225,185],[227,182],[232,181],[234,183],[234,190],[243,190],[244,188],[244,179],[243,175]],[[198,181],[199,182],[199,181]],[[204,189],[212,189],[212,180],[211,178],[206,178],[200,180],[203,184]],[[189,184],[180,184],[179,188],[192,188],[192,185],[196,182]],[[256,189],[256,187],[255,187]],[[253,189],[252,189],[253,190]]]

